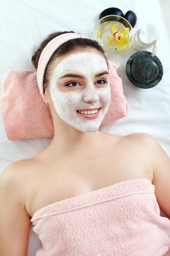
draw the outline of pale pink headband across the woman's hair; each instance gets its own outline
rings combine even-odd
[[[62,45],[63,43],[67,42],[68,40],[75,39],[75,38],[88,38],[82,34],[77,33],[65,33],[61,34],[60,36],[56,36],[53,38],[47,45],[44,47],[40,59],[38,61],[38,68],[37,68],[37,83],[40,90],[40,94],[42,99],[44,100],[44,73],[46,70],[46,66],[49,63],[53,53]]]

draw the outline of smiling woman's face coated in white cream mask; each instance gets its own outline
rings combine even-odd
[[[55,67],[51,99],[57,115],[66,124],[82,132],[99,129],[110,103],[109,81],[105,83],[104,75],[98,75],[103,72],[108,72],[106,60],[99,54],[87,52],[71,54]],[[62,79],[68,74],[72,76],[65,83]],[[83,78],[73,77],[75,74]]]

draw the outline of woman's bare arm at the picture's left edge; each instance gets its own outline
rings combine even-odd
[[[0,181],[0,255],[26,256],[30,217],[24,205],[22,173],[8,166]]]

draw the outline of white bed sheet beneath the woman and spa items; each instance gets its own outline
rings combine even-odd
[[[130,83],[126,62],[135,53],[130,47],[121,54],[109,56],[120,62],[117,70],[123,80],[124,94],[130,115],[101,126],[100,130],[120,135],[147,132],[153,135],[170,156],[170,11],[169,0],[6,0],[0,3],[0,82],[8,70],[33,70],[33,49],[53,31],[73,30],[93,38],[93,27],[99,14],[108,7],[137,15],[136,32],[146,23],[155,23],[160,30],[157,57],[163,64],[163,78],[154,88],[141,89]],[[161,9],[163,8],[163,11]],[[168,29],[167,26],[168,25]],[[169,33],[169,34],[168,34]],[[51,138],[8,141],[0,114],[0,175],[11,162],[29,158],[49,144]],[[35,255],[31,233],[28,256]]]

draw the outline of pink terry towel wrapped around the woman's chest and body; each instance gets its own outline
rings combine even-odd
[[[162,256],[170,220],[160,216],[150,180],[114,184],[47,205],[31,218],[36,256]]]

